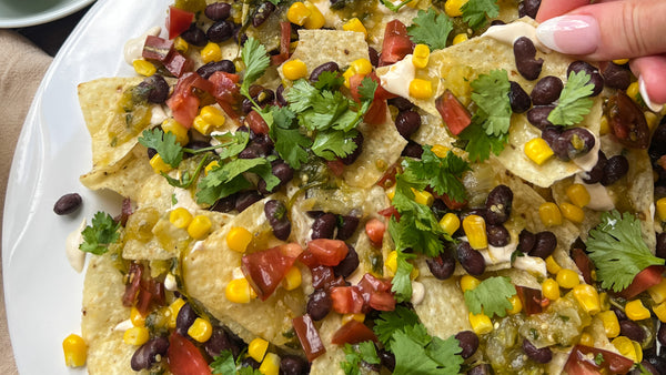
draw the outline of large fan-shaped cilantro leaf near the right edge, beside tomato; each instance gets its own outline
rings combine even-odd
[[[602,222],[589,231],[585,245],[603,287],[619,292],[638,272],[664,264],[663,259],[650,253],[640,233],[638,219],[630,213],[623,215],[617,210],[602,214]]]

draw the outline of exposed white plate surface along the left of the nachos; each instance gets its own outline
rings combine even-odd
[[[164,24],[170,0],[100,0],[74,29],[49,68],[27,116],[12,162],[2,227],[2,266],[9,332],[21,374],[70,374],[62,339],[80,333],[83,274],[64,255],[67,235],[97,211],[120,212],[119,197],[79,183],[91,169],[88,130],[77,84],[131,77],[124,42]],[[53,204],[83,196],[72,216]]]

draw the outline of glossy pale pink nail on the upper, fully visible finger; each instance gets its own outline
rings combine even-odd
[[[587,54],[601,41],[599,26],[591,16],[552,18],[536,28],[536,37],[549,49],[567,54]]]

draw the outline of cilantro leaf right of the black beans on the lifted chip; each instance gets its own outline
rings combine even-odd
[[[594,83],[589,80],[589,74],[584,70],[577,73],[572,71],[559,93],[557,107],[548,114],[548,121],[554,125],[573,125],[583,121],[594,104],[594,100],[589,98]]]

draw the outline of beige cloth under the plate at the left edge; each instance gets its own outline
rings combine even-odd
[[[51,58],[13,31],[0,30],[0,222],[14,145],[39,83]],[[2,232],[0,229],[0,239]],[[0,270],[1,276],[1,270]],[[2,278],[0,277],[0,285]],[[0,374],[18,374],[0,294]]]

